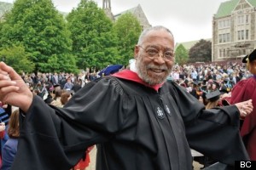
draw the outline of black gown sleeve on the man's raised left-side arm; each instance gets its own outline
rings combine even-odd
[[[80,89],[64,108],[34,97],[21,124],[13,170],[69,170],[87,147],[108,141],[119,131],[127,99],[117,84],[98,81]]]

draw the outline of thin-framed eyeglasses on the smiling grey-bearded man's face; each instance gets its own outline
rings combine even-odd
[[[148,54],[149,59],[155,59],[161,56],[166,61],[170,61],[174,58],[174,54],[172,51],[166,51],[165,53],[160,54],[160,51],[153,47],[149,47],[147,49],[143,48],[142,46],[138,46],[138,47],[142,48],[143,51],[146,54]]]

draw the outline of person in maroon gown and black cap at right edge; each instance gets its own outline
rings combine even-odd
[[[245,117],[241,125],[241,137],[247,147],[250,159],[256,161],[256,49],[251,54],[247,54],[243,59],[247,63],[247,70],[253,76],[242,80],[236,84],[231,92],[231,104],[236,104],[247,99],[253,99],[253,112]]]

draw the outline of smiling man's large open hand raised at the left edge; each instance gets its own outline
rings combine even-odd
[[[27,111],[33,94],[20,75],[9,65],[0,62],[0,100],[3,104],[15,105]]]

